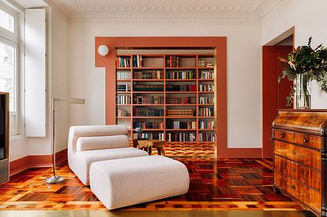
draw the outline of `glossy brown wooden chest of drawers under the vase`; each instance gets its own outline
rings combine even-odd
[[[327,110],[280,110],[272,125],[274,191],[327,216]]]

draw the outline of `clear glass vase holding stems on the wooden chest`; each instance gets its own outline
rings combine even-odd
[[[296,108],[311,108],[311,79],[305,74],[296,75]]]

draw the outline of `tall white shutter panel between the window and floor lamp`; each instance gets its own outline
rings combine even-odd
[[[45,137],[45,9],[25,10],[25,135]]]

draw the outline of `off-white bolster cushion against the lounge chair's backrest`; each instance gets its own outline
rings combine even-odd
[[[129,147],[127,135],[80,137],[76,142],[76,152],[126,147]]]

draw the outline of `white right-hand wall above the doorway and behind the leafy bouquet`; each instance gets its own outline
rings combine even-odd
[[[312,46],[327,46],[327,1],[285,0],[262,19],[262,45],[295,26],[295,45],[306,45],[312,36]],[[311,108],[326,109],[327,94],[312,85]]]

